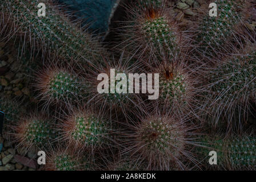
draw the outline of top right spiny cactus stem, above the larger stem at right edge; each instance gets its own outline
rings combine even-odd
[[[217,4],[217,10],[214,11],[217,13],[217,17],[209,15],[210,3],[213,1],[202,3],[202,7],[205,6],[203,10],[205,15],[202,20],[199,20],[197,45],[195,46],[203,59],[214,60],[216,56],[223,53],[233,52],[231,48],[233,44],[241,38],[249,36],[249,34],[245,34],[243,23],[247,19],[250,2],[243,0],[214,1]]]

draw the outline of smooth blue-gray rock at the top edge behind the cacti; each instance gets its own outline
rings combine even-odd
[[[99,33],[109,30],[109,20],[119,0],[56,0],[67,6],[77,18],[90,24],[90,30]]]

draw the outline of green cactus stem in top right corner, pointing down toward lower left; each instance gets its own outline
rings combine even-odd
[[[221,51],[223,46],[227,46],[230,36],[234,36],[237,28],[242,27],[244,17],[242,10],[246,7],[246,2],[241,0],[217,0],[217,17],[207,15],[199,26],[198,42],[199,51],[210,58]],[[206,3],[209,6],[209,3]],[[238,33],[238,32],[237,32]]]

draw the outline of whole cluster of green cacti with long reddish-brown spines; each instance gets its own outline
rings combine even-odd
[[[210,1],[195,1],[199,13],[209,7]],[[37,15],[39,2],[46,3],[45,17]],[[17,147],[45,151],[41,169],[255,170],[255,123],[248,118],[256,101],[256,46],[243,27],[251,1],[217,0],[217,17],[198,13],[196,30],[182,31],[183,18],[175,19],[182,4],[173,6],[178,1],[128,1],[128,16],[116,23],[118,36],[107,51],[50,0],[0,3],[0,43],[16,40],[21,59],[15,62],[29,66],[24,72],[33,89],[29,98],[20,97],[26,110],[1,94],[11,126],[4,132]],[[9,71],[0,67],[1,78],[2,70]],[[147,84],[140,77],[136,90],[129,73],[145,74]],[[149,74],[159,82],[150,84]],[[156,100],[149,99],[150,86],[159,89]],[[239,135],[249,129],[250,135]],[[197,142],[194,136],[205,130]],[[209,150],[217,151],[217,166],[209,166]]]

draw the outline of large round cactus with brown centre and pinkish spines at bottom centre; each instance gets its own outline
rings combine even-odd
[[[183,165],[179,159],[186,155],[186,133],[187,129],[174,117],[151,116],[135,127],[132,151],[154,169],[177,168]]]

